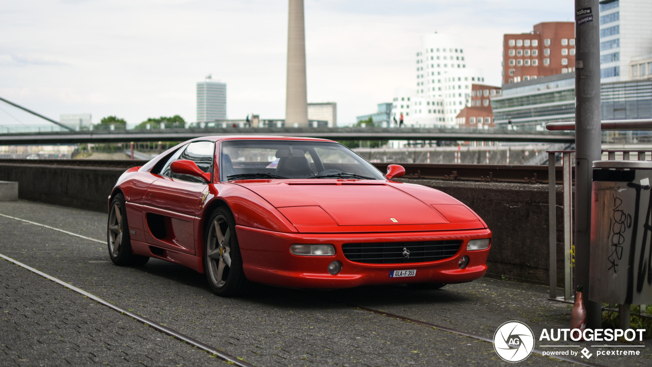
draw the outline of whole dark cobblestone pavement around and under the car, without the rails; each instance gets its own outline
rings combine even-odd
[[[0,202],[0,214],[106,237],[106,214],[25,201]],[[355,305],[488,338],[510,320],[524,321],[535,336],[569,325],[570,306],[546,300],[546,288],[492,279],[436,291],[258,285],[249,296],[220,298],[193,270],[156,259],[139,268],[114,266],[106,245],[6,217],[0,217],[0,253],[257,366],[509,365],[491,343]],[[3,260],[0,286],[2,366],[222,363]],[[597,356],[599,349],[589,349],[589,362],[605,366],[652,364],[648,345],[637,357]],[[569,365],[540,355],[526,363]]]

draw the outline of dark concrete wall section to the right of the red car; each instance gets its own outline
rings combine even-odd
[[[548,284],[548,185],[400,179],[441,190],[464,202],[493,232],[492,278]],[[563,193],[557,185],[557,284],[563,285]]]

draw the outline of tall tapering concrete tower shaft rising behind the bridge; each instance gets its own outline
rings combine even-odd
[[[286,127],[308,126],[306,92],[306,33],[303,0],[289,0],[288,81],[286,85]]]

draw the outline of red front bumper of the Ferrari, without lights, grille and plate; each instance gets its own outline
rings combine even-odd
[[[490,238],[489,229],[440,232],[383,232],[383,233],[282,233],[237,226],[236,232],[243,257],[244,274],[256,283],[282,287],[336,289],[360,285],[402,283],[463,283],[481,278],[487,270],[489,248],[467,251],[469,240]],[[349,261],[342,252],[342,244],[363,242],[410,242],[434,240],[462,240],[457,253],[448,258],[428,263],[366,264]],[[289,251],[292,244],[331,244],[333,256],[298,256]],[[469,264],[460,269],[458,261],[469,257]],[[342,263],[335,275],[327,268],[333,261]],[[391,278],[393,270],[417,270],[415,276]]]

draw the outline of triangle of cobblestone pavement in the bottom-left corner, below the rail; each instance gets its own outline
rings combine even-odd
[[[3,366],[225,363],[8,261],[0,294]]]

